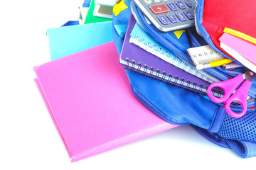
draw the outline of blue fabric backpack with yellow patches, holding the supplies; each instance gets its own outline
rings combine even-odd
[[[147,23],[142,12],[137,6],[131,3],[131,0],[120,0],[113,8],[113,38],[119,55],[124,42],[131,6],[133,7],[133,15],[137,18],[140,26],[152,35],[157,42],[160,42],[161,45],[164,45],[164,47],[179,57],[191,61],[186,51],[187,47],[198,47],[209,44],[216,49],[213,44],[206,41],[208,37],[198,35],[196,31],[198,28],[201,31],[205,31],[203,35],[207,35],[206,30],[203,29],[200,23],[196,23],[196,27],[186,29],[186,32],[183,33],[183,36],[186,37],[184,40],[186,41],[175,40],[172,38],[173,32],[160,33],[154,26]],[[199,11],[202,8],[203,0],[199,0],[196,8],[197,21],[201,21],[202,13]],[[223,52],[220,53],[223,54]],[[207,72],[221,80],[227,80],[228,78],[233,78],[238,74],[246,72],[246,70],[247,68],[242,67],[241,69],[235,69],[235,72],[231,72],[230,70],[217,67],[207,69]],[[126,72],[134,96],[160,118],[175,125],[191,125],[203,137],[206,137],[220,147],[233,149],[242,158],[256,156],[255,101],[247,103],[248,109],[242,118],[233,118],[226,113],[223,104],[214,103],[202,94],[156,81],[142,74],[132,72],[129,69]],[[252,86],[249,91],[252,98],[255,98],[256,94],[255,81],[255,79],[252,80]],[[236,111],[241,110],[239,107],[233,109]]]

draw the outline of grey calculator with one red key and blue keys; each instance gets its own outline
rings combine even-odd
[[[195,26],[195,0],[132,0],[161,32]]]

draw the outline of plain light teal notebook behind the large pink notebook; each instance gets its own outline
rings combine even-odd
[[[46,34],[49,40],[51,60],[113,40],[112,21],[50,28]]]

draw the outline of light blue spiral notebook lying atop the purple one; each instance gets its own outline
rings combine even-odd
[[[169,62],[170,64],[173,64],[174,66],[178,67],[179,69],[183,69],[184,71],[192,74],[193,76],[196,76],[200,79],[203,79],[204,81],[207,81],[210,84],[215,81],[220,81],[220,79],[214,77],[211,74],[208,74],[208,72],[196,69],[196,66],[194,66],[190,62],[183,59],[181,60],[179,57],[174,55],[173,52],[168,50],[159,42],[156,42],[156,40],[154,40],[154,38],[152,38],[151,35],[147,34],[139,26],[138,23],[135,24],[132,30],[129,42],[141,47],[147,52],[150,52],[152,55],[161,58],[161,60]]]

